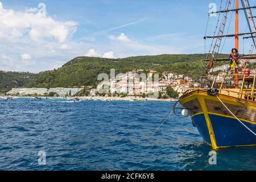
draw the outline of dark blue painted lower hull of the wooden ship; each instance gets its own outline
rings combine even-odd
[[[217,147],[256,145],[256,136],[237,121],[237,119],[222,115],[208,115],[212,123]],[[192,117],[192,121],[205,142],[212,144],[204,114],[195,115]],[[243,123],[256,133],[255,124],[249,122]]]

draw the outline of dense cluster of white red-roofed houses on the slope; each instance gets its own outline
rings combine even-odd
[[[158,72],[147,70],[147,77],[143,80],[143,72],[142,69],[134,69],[107,82],[101,82],[97,89],[90,90],[90,96],[97,96],[104,86],[108,86],[109,93],[112,95],[121,94],[126,96],[150,96],[154,93],[165,96],[168,88],[171,88],[177,92],[177,97],[191,88],[200,87],[200,84],[189,76],[166,71],[162,73],[161,77],[155,79]]]

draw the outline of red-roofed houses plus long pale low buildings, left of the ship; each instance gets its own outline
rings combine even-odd
[[[81,90],[86,88],[86,92],[89,92],[88,96],[148,96],[159,92],[161,95],[165,95],[167,88],[172,88],[180,96],[185,91],[191,88],[198,88],[200,84],[195,82],[191,77],[180,75],[177,73],[163,72],[162,76],[158,80],[153,80],[152,77],[157,73],[156,71],[147,70],[147,79],[141,80],[139,73],[144,72],[142,69],[134,69],[121,76],[117,76],[115,79],[110,79],[108,82],[101,82],[97,88],[92,86],[81,86],[81,88],[13,88],[7,92],[8,96],[52,96],[68,97],[76,96]],[[150,81],[151,78],[151,81]],[[102,86],[108,85],[108,94],[99,94]]]

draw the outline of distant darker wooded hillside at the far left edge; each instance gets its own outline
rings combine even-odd
[[[37,74],[25,72],[3,72],[0,71],[0,93],[5,93],[11,88],[22,87],[34,81]]]

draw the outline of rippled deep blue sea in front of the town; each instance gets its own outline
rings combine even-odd
[[[256,147],[219,150],[217,164],[210,165],[211,147],[181,114],[148,139],[173,105],[0,100],[0,170],[256,169]]]

